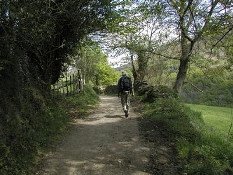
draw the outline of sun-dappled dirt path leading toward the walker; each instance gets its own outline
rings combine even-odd
[[[102,96],[100,107],[78,119],[45,161],[40,175],[149,175],[150,148],[140,141],[137,114],[125,118],[117,97]]]

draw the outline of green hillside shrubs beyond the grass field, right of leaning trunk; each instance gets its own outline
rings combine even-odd
[[[192,70],[182,92],[186,102],[232,107],[232,71],[226,70],[223,66],[208,68],[204,71],[198,68]]]

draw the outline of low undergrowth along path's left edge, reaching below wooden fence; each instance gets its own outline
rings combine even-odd
[[[0,110],[0,174],[33,174],[45,150],[67,130],[70,112],[77,108],[76,116],[82,116],[97,102],[89,86],[70,97],[44,96],[28,88],[20,107],[9,103],[5,115]]]

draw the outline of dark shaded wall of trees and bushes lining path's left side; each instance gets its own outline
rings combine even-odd
[[[67,55],[106,28],[112,1],[0,1],[0,174],[27,174],[67,121],[53,100]]]

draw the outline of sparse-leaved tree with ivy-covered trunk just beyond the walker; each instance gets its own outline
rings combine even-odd
[[[124,13],[123,22],[117,27],[114,34],[107,35],[108,46],[125,54],[127,61],[132,65],[135,81],[143,81],[147,74],[148,60],[151,57],[152,48],[158,41],[154,34],[158,29],[155,19],[145,19],[138,14],[137,8],[130,8]],[[135,61],[136,57],[136,61]]]

